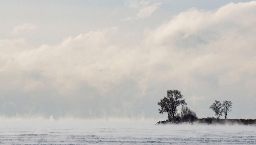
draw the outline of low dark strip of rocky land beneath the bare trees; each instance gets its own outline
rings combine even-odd
[[[202,118],[195,120],[164,120],[159,121],[156,125],[165,125],[165,124],[228,124],[228,125],[256,125],[256,119],[212,119],[212,118]]]

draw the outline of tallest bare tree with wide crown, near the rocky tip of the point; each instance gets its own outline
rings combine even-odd
[[[177,113],[177,107],[179,105],[187,105],[185,99],[182,99],[183,95],[178,90],[167,90],[167,96],[157,103],[161,107],[158,109],[159,113],[163,114],[167,112],[168,119],[174,118],[175,114]]]

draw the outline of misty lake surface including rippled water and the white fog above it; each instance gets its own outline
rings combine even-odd
[[[256,126],[155,120],[1,119],[2,144],[256,144]]]

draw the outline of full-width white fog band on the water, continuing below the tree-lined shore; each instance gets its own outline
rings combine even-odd
[[[179,123],[179,124],[159,124],[156,125],[156,119],[130,119],[130,118],[108,118],[108,119],[45,119],[44,117],[1,117],[1,128],[162,128],[171,130],[193,130],[193,129],[214,129],[214,130],[252,130],[256,128],[255,125],[230,125],[230,124],[203,124],[203,123]]]

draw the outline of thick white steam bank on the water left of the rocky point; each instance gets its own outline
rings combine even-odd
[[[153,119],[74,119],[63,118],[55,120],[52,117],[45,119],[43,117],[35,118],[0,118],[1,127],[6,128],[33,128],[33,127],[53,127],[53,128],[122,128],[133,126],[154,126],[157,120]]]

